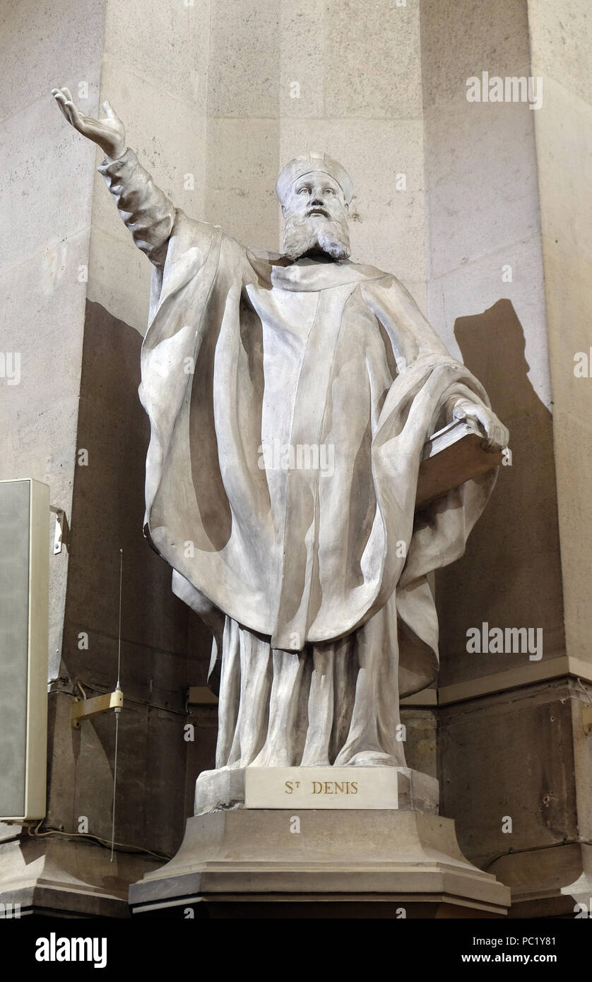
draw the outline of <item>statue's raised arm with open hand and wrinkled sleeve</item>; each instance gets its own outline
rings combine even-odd
[[[126,129],[109,102],[103,102],[104,119],[85,116],[68,88],[53,88],[52,95],[71,126],[105,152],[98,168],[119,213],[134,237],[135,245],[151,262],[162,266],[175,222],[175,207],[127,147]]]

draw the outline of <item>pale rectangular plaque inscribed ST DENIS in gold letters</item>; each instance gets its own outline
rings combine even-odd
[[[398,808],[396,767],[247,767],[245,808]]]

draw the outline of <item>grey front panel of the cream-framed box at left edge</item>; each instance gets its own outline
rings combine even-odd
[[[0,815],[25,813],[29,494],[0,483]]]

